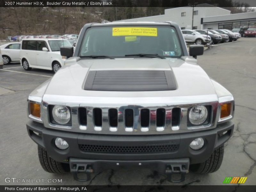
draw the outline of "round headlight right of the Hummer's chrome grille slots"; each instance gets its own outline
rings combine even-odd
[[[208,116],[207,108],[203,105],[192,107],[189,111],[188,118],[190,123],[194,125],[200,125],[204,123]]]

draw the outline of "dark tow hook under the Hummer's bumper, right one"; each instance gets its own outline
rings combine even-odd
[[[167,174],[167,180],[172,183],[179,183],[185,180],[186,173],[188,173],[189,163],[185,164],[168,164],[166,166],[165,173]],[[180,179],[173,180],[172,175],[180,174]]]

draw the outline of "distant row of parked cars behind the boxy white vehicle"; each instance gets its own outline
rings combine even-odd
[[[8,37],[7,39],[10,41],[21,41],[22,39],[31,39],[31,38],[46,38],[46,39],[68,39],[68,40],[74,40],[77,39],[78,35],[76,34],[65,34],[65,35],[19,35],[19,36],[13,36]]]

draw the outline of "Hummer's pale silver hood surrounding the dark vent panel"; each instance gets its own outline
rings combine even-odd
[[[75,60],[74,58],[71,60]],[[192,61],[194,59],[191,59]],[[189,61],[189,60],[188,60]],[[186,59],[82,59],[63,66],[51,79],[45,94],[88,97],[171,97],[212,95],[215,89],[211,79],[196,63]],[[196,60],[194,60],[195,62]],[[173,74],[175,89],[167,91],[94,91],[84,90],[85,82],[93,71],[167,71]],[[120,76],[120,75],[119,75]],[[150,82],[157,81],[152,76]],[[133,81],[134,86],[136,81]],[[153,83],[152,83],[153,84]]]

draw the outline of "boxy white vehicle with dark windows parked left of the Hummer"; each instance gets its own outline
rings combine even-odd
[[[21,41],[20,64],[26,71],[33,67],[56,73],[66,60],[60,55],[60,47],[72,47],[72,44],[64,39],[24,39]]]

